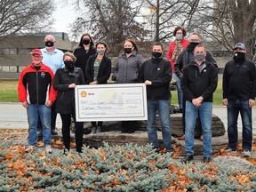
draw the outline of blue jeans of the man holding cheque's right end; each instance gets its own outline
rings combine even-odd
[[[169,100],[148,100],[148,141],[153,144],[154,148],[158,148],[157,130],[156,130],[156,109],[162,127],[162,136],[164,147],[167,152],[172,151],[171,141],[171,118],[169,111]]]

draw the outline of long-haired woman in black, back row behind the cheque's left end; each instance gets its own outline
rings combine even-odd
[[[82,69],[84,81],[86,83],[87,77],[85,76],[85,68],[87,60],[91,55],[96,54],[92,36],[88,33],[83,34],[80,38],[78,47],[76,47],[73,53],[76,56],[75,67]]]

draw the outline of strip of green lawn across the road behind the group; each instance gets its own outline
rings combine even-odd
[[[213,95],[213,104],[221,105],[222,104],[222,80],[219,80],[218,87]],[[17,102],[18,93],[17,93],[18,81],[15,80],[1,80],[0,81],[0,102]],[[172,91],[172,105],[178,104],[177,91]]]

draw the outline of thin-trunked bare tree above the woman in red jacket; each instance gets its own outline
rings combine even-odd
[[[196,12],[200,0],[146,0],[144,6],[150,10],[148,22],[154,26],[155,41],[172,37],[178,25],[189,28],[190,20]]]

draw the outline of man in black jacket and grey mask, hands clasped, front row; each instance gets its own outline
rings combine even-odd
[[[186,100],[185,145],[186,154],[181,162],[188,162],[194,156],[194,128],[196,117],[201,117],[205,163],[212,155],[212,95],[218,84],[218,71],[205,60],[206,51],[202,44],[196,45],[195,60],[184,68],[181,87]]]

